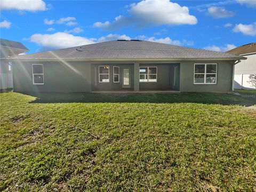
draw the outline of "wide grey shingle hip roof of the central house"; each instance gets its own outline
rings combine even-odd
[[[108,41],[12,57],[18,59],[207,59],[243,57],[149,41]]]

